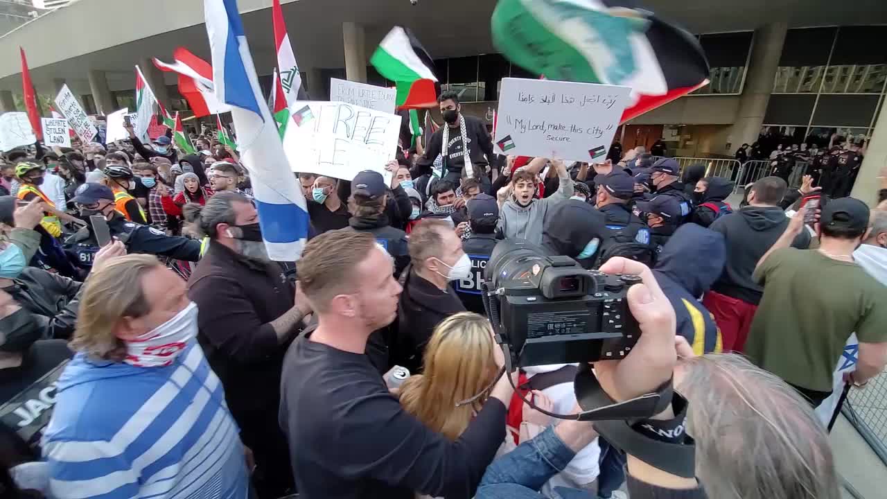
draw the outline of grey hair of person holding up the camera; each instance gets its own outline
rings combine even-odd
[[[828,433],[810,405],[744,357],[686,361],[678,390],[689,401],[696,476],[718,499],[837,499]]]

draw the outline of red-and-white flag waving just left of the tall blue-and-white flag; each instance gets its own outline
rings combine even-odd
[[[172,52],[175,60],[172,64],[154,58],[154,66],[161,71],[178,74],[178,92],[188,101],[194,117],[217,115],[231,111],[231,107],[216,99],[216,87],[213,84],[213,67],[184,47]]]

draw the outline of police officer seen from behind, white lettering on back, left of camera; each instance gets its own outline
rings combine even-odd
[[[577,186],[585,186],[581,182]],[[587,188],[587,187],[586,187]],[[496,226],[498,224],[498,204],[489,194],[477,194],[467,202],[468,226],[471,235],[462,242],[462,250],[471,258],[471,273],[467,279],[455,281],[456,293],[466,310],[483,314],[481,283],[483,271],[496,247]]]

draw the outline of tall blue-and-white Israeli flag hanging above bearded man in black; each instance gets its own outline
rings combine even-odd
[[[277,125],[262,98],[237,0],[204,0],[216,97],[232,107],[240,161],[249,170],[268,255],[295,261],[308,238],[308,210]]]

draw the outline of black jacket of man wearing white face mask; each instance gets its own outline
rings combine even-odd
[[[446,291],[422,279],[412,270],[404,270],[400,278],[404,290],[397,304],[397,336],[391,346],[392,362],[410,369],[412,374],[421,371],[422,354],[431,334],[440,321],[454,313],[465,312],[465,306],[450,285]]]

